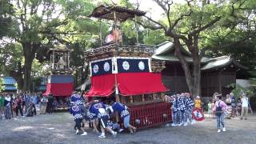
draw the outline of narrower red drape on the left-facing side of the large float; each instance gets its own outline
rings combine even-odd
[[[114,92],[114,74],[104,74],[91,78],[91,88],[86,97],[107,97]]]

